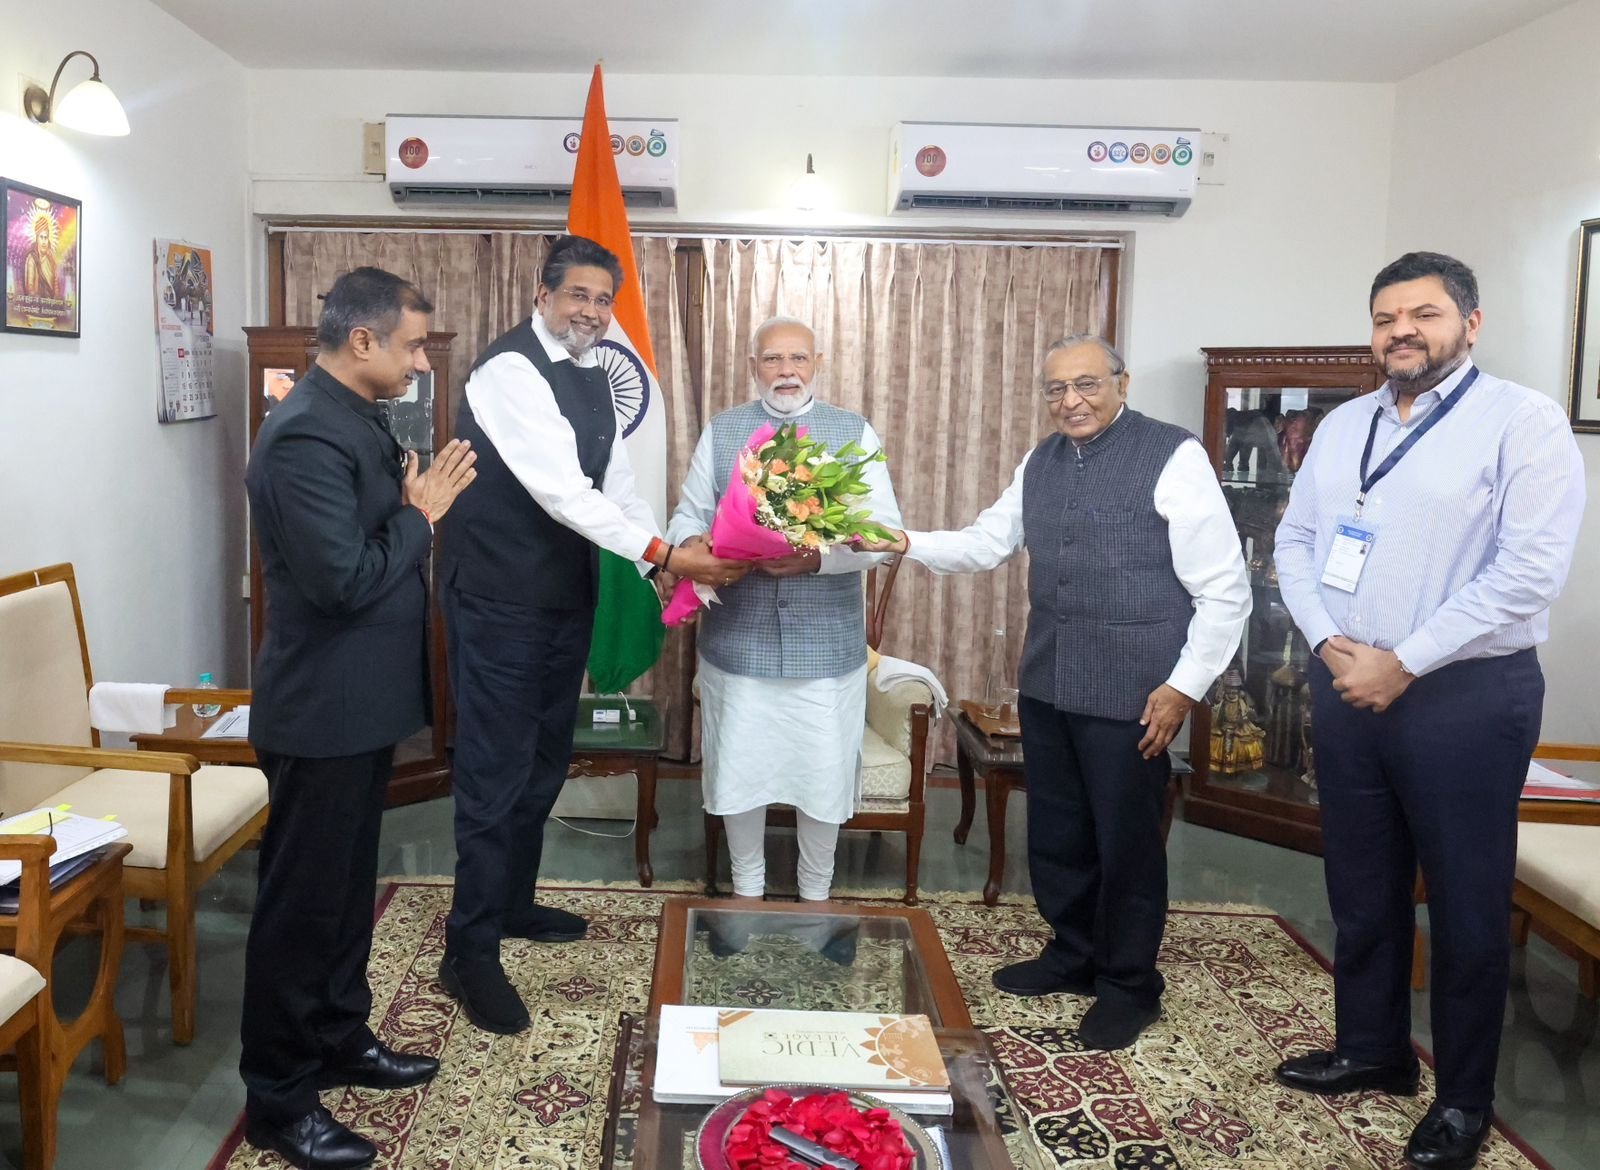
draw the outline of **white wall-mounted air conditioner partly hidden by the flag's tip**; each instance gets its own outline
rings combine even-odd
[[[390,114],[384,120],[395,203],[565,203],[582,118]],[[611,154],[632,206],[677,206],[677,118],[611,120]]]

